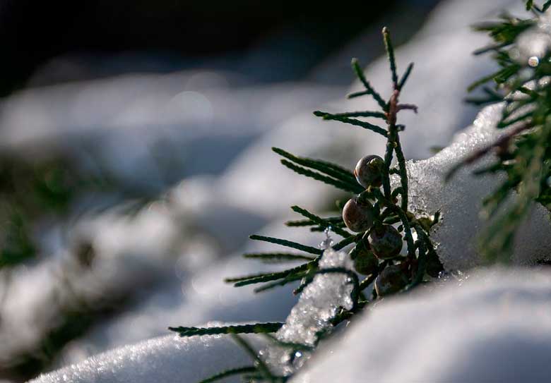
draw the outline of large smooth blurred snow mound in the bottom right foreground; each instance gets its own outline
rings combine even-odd
[[[546,382],[550,304],[546,269],[475,272],[385,300],[291,382]]]

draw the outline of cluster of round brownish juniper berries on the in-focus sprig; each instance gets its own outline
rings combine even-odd
[[[366,189],[380,188],[384,176],[384,160],[377,155],[365,156],[354,169],[358,183]],[[379,272],[380,260],[392,260],[403,247],[401,233],[392,225],[377,219],[377,209],[362,195],[357,195],[343,207],[343,221],[351,231],[365,232],[355,249],[356,272],[370,275]],[[389,264],[374,281],[378,296],[396,293],[407,286],[408,276],[399,265]]]

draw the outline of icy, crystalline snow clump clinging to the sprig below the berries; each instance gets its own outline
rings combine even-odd
[[[328,248],[319,261],[321,270],[352,268],[350,256]],[[331,329],[331,320],[340,308],[352,308],[350,276],[342,272],[318,274],[301,293],[300,300],[292,308],[285,324],[275,334],[278,341],[289,344],[314,346],[319,335]],[[306,351],[296,351],[285,346],[271,346],[262,351],[270,367],[282,375],[290,375],[309,358]]]

